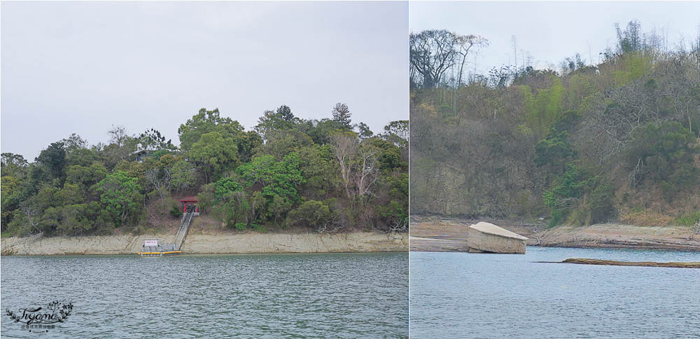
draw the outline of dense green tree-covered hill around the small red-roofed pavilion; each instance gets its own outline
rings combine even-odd
[[[246,131],[200,109],[177,132],[179,146],[118,126],[106,144],[71,134],[34,162],[2,153],[3,237],[143,234],[176,225],[186,195],[232,231],[407,230],[407,120],[374,134],[346,104],[321,120],[282,105]]]

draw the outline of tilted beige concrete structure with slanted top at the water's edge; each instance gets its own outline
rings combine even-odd
[[[467,246],[471,253],[525,254],[526,241],[526,237],[493,223],[479,222],[468,229]]]

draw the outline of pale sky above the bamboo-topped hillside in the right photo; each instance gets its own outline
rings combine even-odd
[[[414,2],[409,4],[409,27],[448,29],[458,34],[477,34],[489,39],[489,47],[470,58],[470,70],[485,74],[491,67],[513,64],[512,36],[521,50],[532,56],[535,68],[554,65],[580,53],[587,63],[598,62],[598,53],[616,41],[615,22],[624,28],[639,20],[644,32],[655,29],[668,38],[668,48],[681,36],[694,39],[700,25],[700,2],[526,2],[464,1]]]

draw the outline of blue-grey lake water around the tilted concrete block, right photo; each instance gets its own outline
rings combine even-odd
[[[700,261],[700,254],[412,252],[411,337],[700,338],[700,270],[534,263],[566,258]]]

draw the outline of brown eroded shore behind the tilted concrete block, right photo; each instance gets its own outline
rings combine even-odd
[[[411,223],[411,251],[463,251],[466,228],[475,220],[414,218]],[[591,226],[519,226],[489,221],[528,237],[530,246],[581,248],[632,248],[700,251],[700,236],[691,238],[688,228],[677,226],[635,226],[598,223]]]

